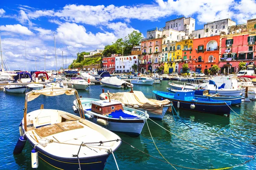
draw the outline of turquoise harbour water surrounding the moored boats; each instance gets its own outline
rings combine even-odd
[[[134,90],[143,91],[146,97],[151,98],[152,90],[166,91],[166,87],[168,87],[167,81],[162,81],[161,85],[134,85]],[[117,91],[129,91],[107,88],[102,85],[92,85],[90,89],[86,91],[79,91],[79,95],[99,99],[102,88],[105,89],[105,92],[109,90],[112,93]],[[23,118],[24,98],[24,94],[4,94],[3,91],[0,91],[1,170],[32,169],[30,159],[32,148],[28,142],[21,154],[15,156],[12,154],[19,138],[18,126]],[[73,96],[66,95],[56,97],[40,96],[32,102],[29,102],[28,112],[37,110],[40,108],[41,104],[44,104],[44,108],[60,109],[73,113],[71,108],[73,100]],[[160,128],[150,120],[148,120],[148,125],[158,149],[170,163],[198,169],[230,167],[249,159],[246,157],[231,156],[230,154],[221,153],[219,151],[239,155],[256,154],[256,146],[250,144],[251,142],[256,142],[256,102],[244,102],[241,104],[241,108],[232,107],[232,109],[247,119],[241,119],[234,113],[231,113],[230,117],[223,117],[206,113],[177,110],[180,117],[186,124],[192,127],[192,129],[186,127],[177,116],[175,116],[177,121],[177,123],[175,123],[171,113],[167,113],[162,121],[154,120],[178,136],[204,147],[211,148],[210,150],[186,142]],[[164,160],[155,148],[146,125],[143,127],[141,135],[137,138],[132,138],[122,133],[118,133],[118,135],[124,141],[143,150],[143,152]],[[124,143],[122,143],[121,147],[119,147],[114,154],[120,170],[148,170],[149,168],[154,170],[174,169],[171,165],[146,156]],[[181,167],[176,168],[177,170],[184,169]],[[54,168],[44,161],[39,160],[38,170],[46,169],[53,170]],[[115,169],[116,164],[111,155],[107,161],[105,170]],[[256,160],[252,160],[248,164],[233,169],[255,170]]]

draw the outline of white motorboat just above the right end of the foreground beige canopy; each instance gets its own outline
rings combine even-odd
[[[67,84],[68,88],[74,88],[78,90],[85,90],[90,85],[87,81],[85,81],[81,77],[69,77],[63,83]]]

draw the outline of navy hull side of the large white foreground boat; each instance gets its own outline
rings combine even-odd
[[[26,133],[25,133],[25,136],[27,137]],[[27,137],[27,139],[28,139],[28,142],[31,144],[31,146],[33,148],[36,147],[36,149],[38,150],[38,157],[41,158],[43,161],[47,162],[52,167],[55,167],[57,169],[62,169],[62,170],[79,169],[79,163],[78,163],[77,157],[70,159],[70,158],[54,156],[42,150],[40,147],[35,146],[35,144],[29,140],[29,137]],[[77,152],[78,150],[76,151],[74,150],[74,154],[77,154]],[[81,169],[104,170],[108,156],[109,154],[106,154],[104,156],[90,157],[90,158],[79,158]]]

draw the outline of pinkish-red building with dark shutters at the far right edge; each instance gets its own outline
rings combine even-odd
[[[219,67],[221,73],[231,74],[239,71],[239,62],[253,64],[256,57],[256,31],[229,34],[221,36],[221,58]],[[250,63],[249,63],[250,62]]]

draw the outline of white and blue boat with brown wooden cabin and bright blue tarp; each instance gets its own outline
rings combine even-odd
[[[148,119],[146,112],[122,106],[114,100],[98,100],[81,98],[85,119],[90,120],[108,130],[126,133],[131,136],[140,136],[141,130]],[[74,105],[78,109],[77,101]],[[74,110],[76,112],[76,110]]]

